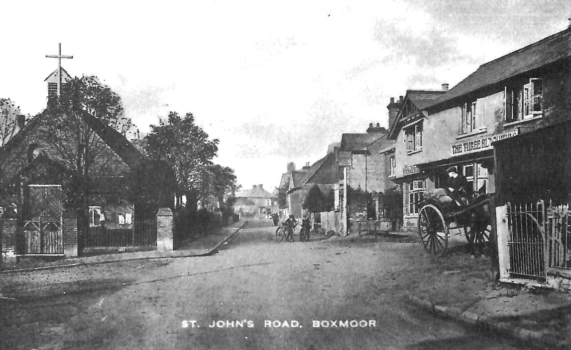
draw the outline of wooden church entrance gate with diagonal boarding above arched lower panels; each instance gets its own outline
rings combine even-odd
[[[28,185],[24,193],[23,254],[63,254],[62,186]]]

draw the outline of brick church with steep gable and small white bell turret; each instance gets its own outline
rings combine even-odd
[[[45,79],[48,100],[71,79],[61,66],[52,72]],[[78,141],[63,127],[54,134],[58,118],[50,107],[27,123],[20,118],[19,131],[0,148],[3,262],[74,257],[109,247],[152,249],[156,209],[171,206],[173,198],[171,190],[158,192],[174,184],[170,168],[148,160],[122,133],[83,113],[94,142],[102,146],[89,169],[89,232],[78,236],[78,205],[70,197],[78,184],[70,176],[69,158],[58,148],[66,143],[74,149]]]

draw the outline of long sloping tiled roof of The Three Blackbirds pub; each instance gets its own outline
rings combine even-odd
[[[429,108],[475,92],[478,89],[500,83],[502,80],[512,78],[518,74],[567,58],[571,55],[570,39],[571,30],[565,29],[500,58],[484,63],[475,72],[451,88],[446,95],[436,100]]]

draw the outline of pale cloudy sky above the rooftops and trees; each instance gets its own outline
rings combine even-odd
[[[565,29],[568,0],[10,1],[0,97],[35,115],[57,68],[96,75],[148,132],[194,114],[243,188],[279,185],[342,133],[388,127],[390,97],[453,87],[480,64]]]

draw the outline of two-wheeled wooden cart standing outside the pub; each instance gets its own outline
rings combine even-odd
[[[449,198],[449,197],[448,197]],[[439,202],[425,199],[419,210],[419,234],[424,249],[441,257],[448,248],[450,230],[464,233],[472,253],[485,249],[492,230],[490,200],[492,195],[480,194],[468,204],[458,205],[456,201]]]

